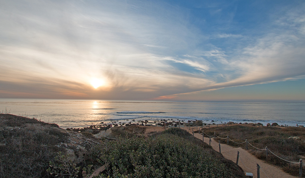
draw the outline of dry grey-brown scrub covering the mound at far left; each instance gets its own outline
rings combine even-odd
[[[80,152],[76,145],[97,142],[79,135],[35,118],[0,114],[0,177],[51,177],[46,170],[58,152],[70,154],[76,163],[85,162],[80,153],[90,150],[90,146]]]

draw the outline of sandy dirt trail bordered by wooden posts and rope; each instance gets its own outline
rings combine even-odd
[[[188,129],[188,127],[184,127],[181,129],[185,129],[189,133],[192,133],[192,128],[190,128],[190,130]],[[196,127],[194,127],[194,130],[195,129],[196,129]],[[199,138],[200,140],[202,140],[202,134],[195,133],[194,136]],[[209,143],[209,138],[204,137],[204,142]],[[217,141],[215,141],[213,138],[211,138],[211,146],[217,152],[219,152],[218,145],[219,145],[219,143]],[[221,153],[224,156],[224,158],[230,159],[233,162],[236,162],[237,151],[239,151],[238,165],[242,168],[242,170],[244,170],[244,172],[253,173],[254,178],[257,178],[257,169],[255,169],[256,164],[259,164],[261,167],[260,168],[260,178],[268,178],[268,177],[269,178],[278,178],[278,177],[296,178],[296,176],[291,176],[290,174],[287,174],[284,171],[282,171],[282,169],[280,167],[267,164],[266,162],[257,159],[251,153],[249,153],[248,151],[246,151],[240,147],[235,148],[235,147],[231,147],[229,145],[222,144],[222,143],[220,144],[220,147],[221,147]],[[250,169],[254,169],[254,170],[250,170],[247,167]],[[265,175],[265,173],[267,176]]]

